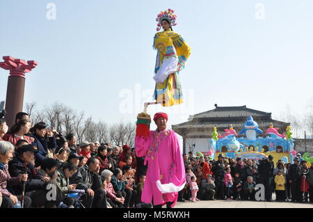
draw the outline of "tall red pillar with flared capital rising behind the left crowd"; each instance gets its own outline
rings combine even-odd
[[[25,72],[31,72],[38,63],[3,56],[4,62],[0,62],[0,68],[10,70],[8,88],[6,90],[6,123],[9,127],[15,124],[15,115],[23,110]]]

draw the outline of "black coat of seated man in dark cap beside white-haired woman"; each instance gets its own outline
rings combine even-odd
[[[35,170],[33,165],[29,164],[26,166],[25,162],[17,157],[10,161],[8,166],[11,177],[18,177],[21,174],[27,173],[29,177],[25,185],[26,192],[36,191],[38,189],[45,188],[46,182],[37,179],[37,171]],[[15,195],[22,194],[22,185],[12,187],[12,189]]]

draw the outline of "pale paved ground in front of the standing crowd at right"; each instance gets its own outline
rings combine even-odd
[[[200,200],[177,202],[175,208],[313,208],[312,203],[264,202],[243,200]]]

